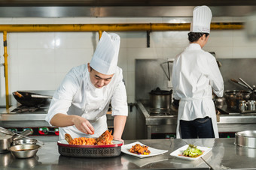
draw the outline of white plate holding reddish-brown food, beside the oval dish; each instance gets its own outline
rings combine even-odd
[[[131,153],[131,152],[130,152],[130,148],[132,148],[133,145],[136,145],[136,144],[144,145],[144,144],[142,144],[141,142],[133,142],[133,143],[131,143],[131,144],[123,145],[122,148],[121,148],[121,151],[122,151],[124,154],[130,154],[130,155],[133,155],[133,156],[139,157],[139,158],[153,157],[153,156],[156,156],[156,155],[159,155],[159,154],[164,154],[164,153],[168,152],[167,150],[160,150],[160,149],[155,149],[155,148],[148,147],[148,150],[151,151],[151,154],[148,154],[148,155],[139,155],[139,154]]]

